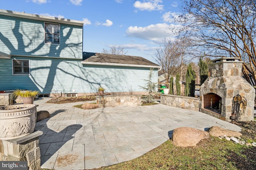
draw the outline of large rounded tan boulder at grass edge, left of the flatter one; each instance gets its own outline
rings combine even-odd
[[[178,147],[194,147],[202,139],[209,138],[209,133],[191,127],[178,127],[172,134],[172,143]]]

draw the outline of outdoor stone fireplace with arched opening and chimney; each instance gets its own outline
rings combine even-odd
[[[199,110],[225,121],[254,119],[255,89],[242,77],[238,58],[220,58],[209,65],[210,77],[200,87]]]

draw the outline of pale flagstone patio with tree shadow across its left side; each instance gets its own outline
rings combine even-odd
[[[206,130],[211,126],[241,131],[240,127],[198,111],[162,104],[116,106],[83,110],[68,104],[36,100],[37,110],[50,118],[36,123],[41,167],[83,170],[132,160],[169,140],[177,127]]]

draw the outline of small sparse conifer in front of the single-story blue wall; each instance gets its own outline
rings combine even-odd
[[[146,86],[143,87],[143,86],[140,86],[142,89],[144,89],[145,91],[148,92],[148,94],[146,95],[146,101],[147,102],[152,102],[154,100],[154,92],[156,91],[156,88],[157,88],[157,83],[154,83],[152,82],[152,72],[153,72],[154,68],[150,68],[150,72],[149,72],[149,75],[148,75],[148,80],[145,80],[147,83],[146,83]]]

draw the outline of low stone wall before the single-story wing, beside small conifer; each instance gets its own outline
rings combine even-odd
[[[111,106],[141,106],[140,95],[106,95],[96,96],[99,107]]]

